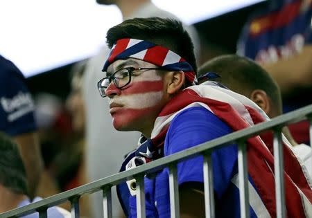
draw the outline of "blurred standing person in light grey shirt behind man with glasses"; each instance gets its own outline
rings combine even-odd
[[[133,17],[175,17],[175,15],[157,8],[150,0],[97,0],[101,5],[116,5],[123,16],[123,20]],[[193,37],[196,46],[196,53],[199,54],[199,39],[193,26],[187,26],[187,30]],[[120,137],[118,131],[112,129],[109,114],[103,113],[108,110],[108,105],[98,96],[96,82],[102,78],[101,67],[103,60],[110,53],[107,46],[103,46],[97,55],[89,60],[85,69],[83,98],[85,100],[86,112],[86,164],[89,181],[95,181],[105,176],[110,176],[119,171],[119,159],[123,155],[135,149],[139,133],[128,132]],[[104,134],[103,134],[104,133]],[[105,160],[105,167],[103,167]],[[121,211],[115,190],[112,190],[113,216]],[[92,194],[92,205],[94,206],[94,217],[103,217],[102,214],[102,195],[101,193]]]

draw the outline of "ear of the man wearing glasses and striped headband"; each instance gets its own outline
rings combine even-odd
[[[172,95],[179,91],[185,80],[185,75],[183,71],[171,71],[166,74],[167,80],[167,93]]]

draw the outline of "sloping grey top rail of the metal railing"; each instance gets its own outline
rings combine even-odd
[[[42,199],[41,201],[37,201],[35,203],[32,203],[30,205],[21,208],[17,208],[15,210],[10,210],[8,212],[0,214],[0,218],[12,217],[16,215],[28,215],[35,212],[37,208],[40,208],[42,206],[49,207],[56,206],[60,203],[63,203],[64,201],[67,201],[67,199],[75,195],[96,192],[98,190],[101,190],[101,187],[103,187],[103,185],[117,185],[128,179],[133,179],[137,174],[142,173],[149,174],[152,172],[156,172],[157,170],[160,170],[161,168],[168,165],[169,163],[176,163],[177,161],[181,161],[182,159],[189,158],[197,154],[201,154],[202,152],[214,149],[215,147],[218,148],[224,147],[225,144],[234,142],[239,138],[249,138],[267,129],[272,129],[273,127],[288,125],[291,122],[298,122],[300,120],[303,120],[309,115],[312,115],[312,105],[278,116],[268,122],[261,122],[257,125],[254,125],[254,127],[246,128],[241,131],[235,131],[232,134],[216,138],[214,140],[209,141],[208,143],[202,143],[201,145],[198,145],[196,147],[191,147],[182,152],[178,152],[176,154],[160,158],[156,161],[152,161],[148,164],[135,167],[134,169],[114,174],[112,176],[108,176],[103,179],[99,179],[98,181],[82,185],[78,188],[74,188],[72,190],[62,192],[60,194],[55,194],[52,197]]]

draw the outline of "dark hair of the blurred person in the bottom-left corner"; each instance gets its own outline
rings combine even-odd
[[[0,183],[15,193],[27,195],[26,170],[19,149],[3,132],[0,132],[0,151]]]

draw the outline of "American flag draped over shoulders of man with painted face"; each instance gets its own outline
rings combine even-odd
[[[138,147],[136,156],[153,161],[153,154],[164,145],[164,138],[171,120],[189,107],[204,107],[223,120],[234,131],[245,129],[269,120],[257,106],[238,93],[218,87],[216,84],[197,85],[184,89],[162,109],[155,121],[152,136]],[[254,136],[248,143],[248,173],[254,182],[263,204],[276,217],[274,158],[272,156],[272,133]],[[284,142],[284,182],[286,189],[286,211],[288,217],[312,217],[312,185],[308,173]],[[133,161],[133,160],[132,160]]]

